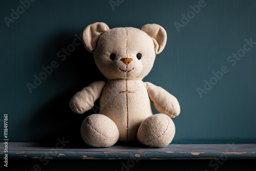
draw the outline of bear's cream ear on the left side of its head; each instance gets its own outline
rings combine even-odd
[[[105,23],[94,23],[87,26],[82,33],[83,45],[89,52],[93,53],[100,35],[109,29]]]

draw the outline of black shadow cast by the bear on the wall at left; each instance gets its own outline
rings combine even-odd
[[[67,37],[65,35],[70,35],[70,33],[61,33],[59,36],[51,37],[45,45],[42,60],[55,60],[57,58],[56,52],[73,42],[74,36],[65,39]],[[78,39],[76,42],[79,42]],[[52,49],[49,49],[49,47],[52,47]],[[57,138],[63,138],[65,141],[69,141],[68,146],[84,146],[86,144],[81,138],[80,126],[87,116],[95,113],[94,111],[97,108],[79,115],[71,111],[69,101],[83,87],[97,80],[105,80],[105,78],[96,67],[93,54],[88,52],[82,43],[75,47],[75,50],[67,56],[65,61],[56,60],[60,61],[60,65],[54,70],[58,70],[64,73],[66,77],[70,77],[72,86],[68,91],[55,96],[53,100],[47,101],[41,109],[35,112],[27,125],[28,131],[34,142],[56,144]],[[49,65],[49,62],[45,63]],[[56,75],[54,76],[57,77]],[[59,82],[55,82],[57,80],[57,78],[54,79],[53,83],[59,84]],[[97,100],[95,106],[98,105]]]

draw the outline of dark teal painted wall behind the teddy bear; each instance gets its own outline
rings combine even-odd
[[[113,10],[109,0],[37,0],[24,11],[19,1],[1,2],[0,139],[4,139],[3,119],[8,113],[9,141],[55,142],[65,137],[81,142],[80,125],[97,106],[78,115],[69,109],[69,100],[89,83],[104,78],[92,54],[77,45],[77,37],[89,24],[104,22],[110,28],[140,28],[149,23],[165,28],[166,47],[144,81],[161,86],[180,102],[174,143],[255,143],[256,2],[119,2]],[[200,11],[191,12],[189,6],[198,4]],[[17,8],[21,14],[11,15]],[[182,14],[188,14],[189,21]],[[9,27],[7,17],[14,18]],[[65,54],[63,50],[72,48],[73,40],[75,50]],[[232,53],[242,57],[236,59]],[[33,84],[34,75],[39,76],[42,67],[51,63],[55,68],[49,70],[50,75],[30,92],[27,83]],[[222,74],[217,72],[221,70]],[[215,85],[207,85],[206,91],[204,80]]]

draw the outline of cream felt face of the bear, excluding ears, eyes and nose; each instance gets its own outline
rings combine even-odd
[[[110,59],[112,53],[116,54],[114,62]],[[137,53],[142,54],[140,60],[137,59]],[[134,59],[127,66],[120,61],[126,57]],[[107,79],[141,80],[152,69],[155,57],[153,39],[144,31],[132,27],[107,30],[99,37],[94,50],[96,65]],[[120,69],[130,72],[119,72]]]

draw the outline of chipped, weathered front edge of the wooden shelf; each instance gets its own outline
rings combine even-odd
[[[3,153],[1,157],[3,158]],[[58,152],[58,153],[46,153],[46,152],[10,152],[8,153],[10,159],[134,159],[134,160],[149,160],[149,159],[256,159],[256,152],[242,152],[242,153],[209,153],[202,152],[200,154],[194,154],[193,152],[186,153],[158,153],[158,152],[128,152],[128,153],[99,153],[99,152]]]

